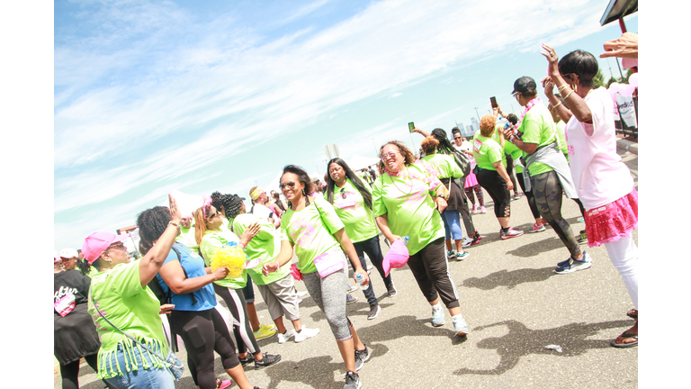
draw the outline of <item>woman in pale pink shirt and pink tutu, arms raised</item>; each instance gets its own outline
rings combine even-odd
[[[638,346],[638,249],[633,230],[638,228],[638,193],[629,168],[616,153],[615,105],[604,86],[593,89],[597,59],[588,51],[575,50],[559,60],[543,44],[549,61],[544,94],[553,109],[567,121],[571,176],[586,209],[588,246],[604,244],[612,264],[624,279],[633,301],[628,315],[633,327],[611,341],[615,348]],[[559,89],[563,104],[554,96]],[[570,109],[565,107],[569,104]]]

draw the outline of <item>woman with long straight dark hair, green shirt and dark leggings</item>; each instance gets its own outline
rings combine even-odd
[[[372,265],[377,268],[379,275],[384,280],[384,285],[392,297],[396,295],[396,288],[391,282],[391,276],[386,276],[381,263],[384,256],[381,255],[379,245],[379,230],[372,216],[372,189],[367,182],[356,176],[348,167],[345,160],[333,158],[327,164],[327,201],[334,204],[338,217],[346,226],[348,238],[353,242],[360,265],[367,268],[364,261],[364,253],[372,260]],[[369,173],[367,173],[369,176]],[[354,268],[354,266],[353,266]],[[370,303],[370,312],[367,319],[372,320],[381,312],[377,296],[374,294],[374,285],[370,280],[370,286],[363,290],[367,302]]]

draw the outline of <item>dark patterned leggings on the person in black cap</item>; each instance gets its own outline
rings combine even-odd
[[[552,230],[557,233],[571,253],[571,257],[580,254],[579,241],[573,236],[569,222],[561,217],[561,183],[555,171],[548,171],[530,177],[533,186],[535,204],[545,222],[550,223]]]

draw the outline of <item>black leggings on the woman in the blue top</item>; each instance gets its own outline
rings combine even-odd
[[[200,312],[174,310],[170,313],[170,328],[183,339],[187,366],[194,384],[201,389],[216,389],[214,350],[220,355],[224,369],[240,364],[226,322],[216,309]]]

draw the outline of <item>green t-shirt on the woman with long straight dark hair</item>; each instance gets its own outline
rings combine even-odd
[[[363,181],[364,188],[372,195],[372,188]],[[346,198],[343,198],[346,195]],[[350,178],[342,188],[334,185],[334,209],[346,226],[346,234],[353,243],[368,240],[379,235],[372,210],[364,204],[363,195]]]

